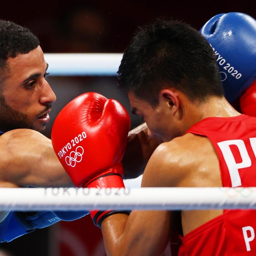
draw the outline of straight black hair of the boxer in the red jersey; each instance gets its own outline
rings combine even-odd
[[[190,25],[156,19],[139,27],[117,71],[119,88],[158,105],[158,94],[174,87],[189,100],[224,96],[219,67],[207,40]]]

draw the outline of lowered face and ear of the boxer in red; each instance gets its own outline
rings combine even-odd
[[[140,116],[147,123],[149,137],[154,137],[161,143],[180,136],[172,121],[170,108],[165,102],[160,100],[159,105],[153,108],[147,101],[137,98],[132,92],[128,92],[128,97],[132,113]]]

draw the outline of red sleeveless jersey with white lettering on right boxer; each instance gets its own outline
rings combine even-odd
[[[256,117],[208,117],[188,129],[208,137],[223,187],[256,187]],[[179,256],[256,255],[256,211],[224,213],[181,237]]]

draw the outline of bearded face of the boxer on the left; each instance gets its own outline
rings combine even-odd
[[[48,64],[41,47],[9,58],[7,64],[10,70],[1,77],[0,129],[43,132],[56,96],[45,80]]]

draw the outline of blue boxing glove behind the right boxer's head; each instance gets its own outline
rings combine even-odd
[[[256,20],[241,12],[221,13],[200,32],[216,54],[225,97],[233,103],[256,78]]]

